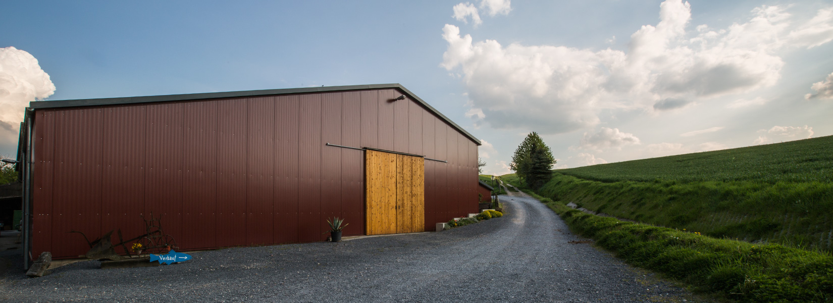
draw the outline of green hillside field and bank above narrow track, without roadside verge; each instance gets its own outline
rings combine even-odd
[[[833,251],[831,151],[833,137],[819,137],[556,170],[538,193],[716,238]]]

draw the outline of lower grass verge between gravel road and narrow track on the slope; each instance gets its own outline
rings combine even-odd
[[[594,216],[531,194],[597,246],[632,265],[686,282],[694,291],[743,302],[833,301],[830,254]]]

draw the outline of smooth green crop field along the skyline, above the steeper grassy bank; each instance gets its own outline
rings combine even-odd
[[[556,170],[616,181],[833,182],[833,136]]]

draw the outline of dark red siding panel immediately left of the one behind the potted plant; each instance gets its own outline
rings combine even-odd
[[[321,224],[321,95],[301,95],[301,122],[298,147],[298,241],[322,239]]]

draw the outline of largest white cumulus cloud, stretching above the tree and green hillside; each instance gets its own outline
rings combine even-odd
[[[492,127],[571,132],[596,125],[602,110],[660,112],[773,86],[784,66],[779,52],[829,42],[833,26],[826,11],[796,25],[785,9],[757,7],[746,22],[687,32],[691,6],[666,0],[661,21],[634,32],[627,51],[474,42],[446,24],[441,67],[462,75]]]

